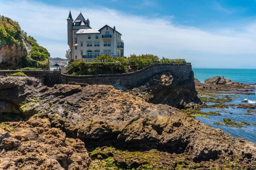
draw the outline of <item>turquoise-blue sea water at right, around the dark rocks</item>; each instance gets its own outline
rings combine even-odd
[[[214,76],[224,76],[225,78],[231,79],[233,82],[242,82],[242,83],[256,83],[256,69],[214,69],[214,68],[193,68],[195,78],[200,82],[204,82],[204,79],[214,77]],[[251,91],[255,93],[255,91]],[[238,95],[238,94],[236,94]],[[232,102],[226,102],[225,104],[241,104],[244,99],[250,100],[252,105],[256,105],[256,95],[244,95],[239,94],[233,98]],[[244,103],[243,103],[244,104]],[[212,105],[212,103],[207,103],[207,105]],[[242,137],[246,140],[256,143],[256,113],[253,113],[253,116],[244,115],[247,113],[248,109],[241,108],[225,108],[218,109],[213,108],[203,108],[201,111],[220,111],[220,116],[209,116],[206,117],[197,117],[196,119],[200,122],[211,125],[214,128],[220,128],[226,133],[231,134],[234,137]],[[256,109],[252,109],[256,112]],[[230,114],[232,113],[232,114]],[[229,127],[228,125],[215,125],[214,122],[221,122],[223,118],[230,118],[232,121],[241,123],[242,121],[250,123],[250,125],[244,125],[244,127]]]

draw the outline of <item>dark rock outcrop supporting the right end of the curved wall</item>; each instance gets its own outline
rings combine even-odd
[[[127,92],[154,104],[166,104],[175,108],[196,108],[201,104],[195,90],[194,73],[191,71],[189,79],[183,82],[169,73],[152,77],[145,85]]]

